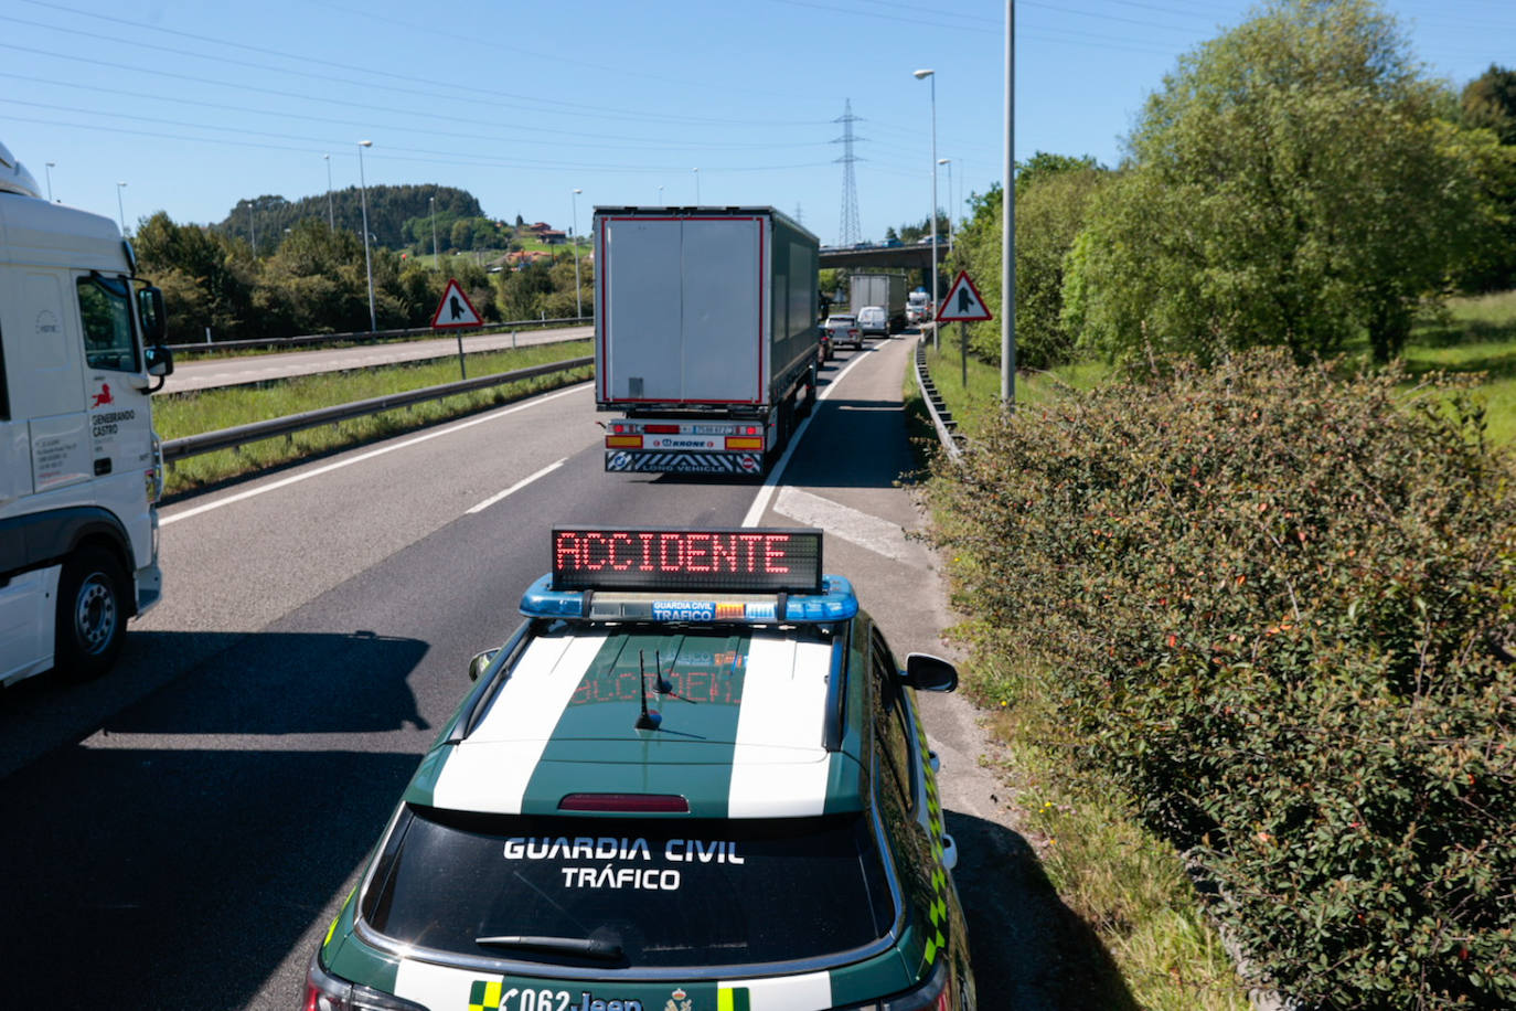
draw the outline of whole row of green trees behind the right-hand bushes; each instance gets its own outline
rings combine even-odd
[[[1181,59],[1128,159],[1038,153],[1016,182],[1017,358],[1099,352],[1296,358],[1367,336],[1396,355],[1416,312],[1516,286],[1516,73],[1427,79],[1369,0],[1275,0]],[[952,267],[999,302],[996,189]],[[998,324],[973,349],[999,359]]]

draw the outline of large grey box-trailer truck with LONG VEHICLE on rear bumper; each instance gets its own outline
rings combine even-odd
[[[763,474],[816,402],[820,243],[773,208],[596,208],[605,470]]]

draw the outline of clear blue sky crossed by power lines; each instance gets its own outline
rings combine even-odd
[[[1016,3],[1016,155],[1120,158],[1145,97],[1251,3]],[[1461,86],[1516,65],[1510,0],[1392,0]],[[864,239],[1001,179],[1005,5],[743,0],[0,0],[0,141],[64,203],[218,221],[243,197],[470,189],[555,226],[596,205],[772,205],[841,227],[844,102]],[[324,159],[323,155],[330,155]],[[45,162],[55,162],[47,170]],[[699,171],[696,171],[699,170]],[[949,173],[952,191],[949,192]],[[118,186],[126,182],[126,186]],[[572,196],[575,188],[584,192]]]

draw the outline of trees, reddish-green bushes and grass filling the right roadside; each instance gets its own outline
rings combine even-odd
[[[1128,149],[1019,167],[1019,411],[998,323],[928,355],[1029,838],[1142,1006],[1516,1006],[1516,73],[1275,0]]]

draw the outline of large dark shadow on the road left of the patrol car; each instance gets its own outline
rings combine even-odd
[[[5,714],[127,693],[0,778],[8,1006],[244,1005],[314,950],[431,743],[418,640],[135,632],[133,652],[173,673],[127,656]]]

